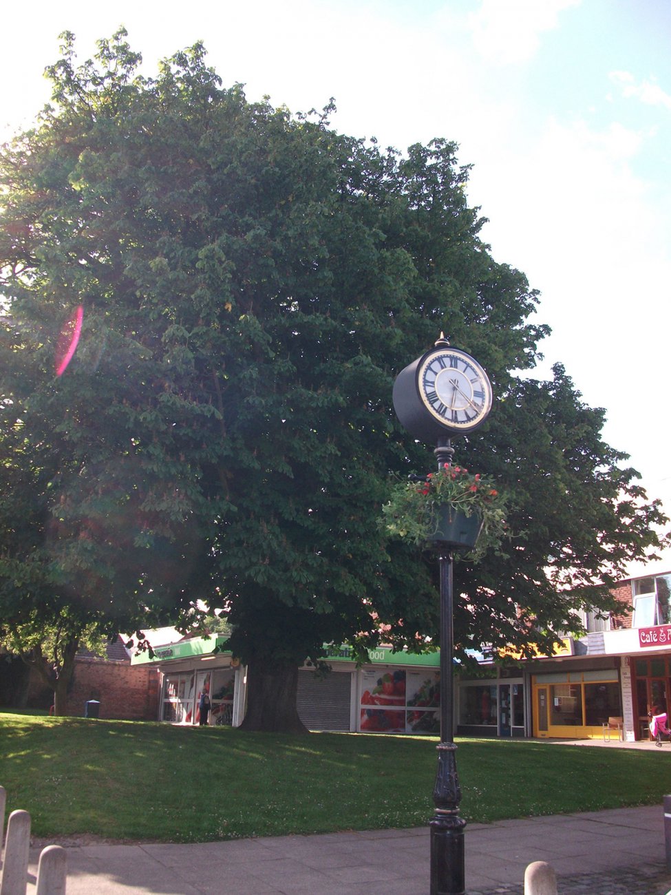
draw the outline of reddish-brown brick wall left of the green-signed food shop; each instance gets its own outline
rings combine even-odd
[[[100,718],[157,720],[160,675],[157,669],[122,661],[78,659],[68,688],[67,713],[83,715],[97,699]]]

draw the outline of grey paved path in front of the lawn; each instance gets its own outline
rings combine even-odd
[[[661,805],[472,823],[465,849],[468,895],[522,895],[539,860],[559,895],[671,890]],[[428,828],[67,851],[67,895],[429,895]]]

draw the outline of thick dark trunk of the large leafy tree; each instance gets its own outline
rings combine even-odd
[[[298,716],[298,668],[255,658],[247,670],[247,713],[242,730],[307,733]]]

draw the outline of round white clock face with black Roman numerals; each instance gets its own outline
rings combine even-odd
[[[491,410],[487,373],[458,348],[438,348],[428,354],[420,364],[417,385],[429,413],[448,429],[476,429]]]

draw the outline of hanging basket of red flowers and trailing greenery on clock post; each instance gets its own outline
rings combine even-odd
[[[421,547],[449,547],[481,558],[496,549],[505,530],[505,498],[484,475],[446,464],[426,479],[398,482],[382,507],[391,537]]]

